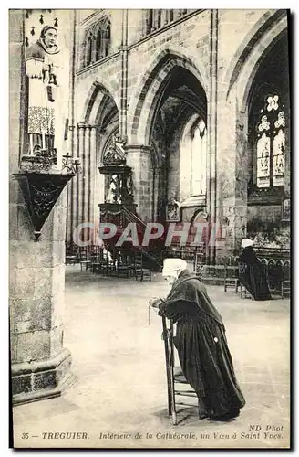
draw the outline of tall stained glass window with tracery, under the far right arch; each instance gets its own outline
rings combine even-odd
[[[284,105],[277,93],[265,99],[256,126],[256,186],[284,186]]]

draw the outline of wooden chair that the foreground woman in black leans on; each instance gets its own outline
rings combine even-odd
[[[181,368],[175,367],[174,357],[174,343],[173,343],[173,323],[162,316],[163,326],[163,340],[165,348],[165,362],[166,362],[166,377],[167,377],[167,392],[168,392],[168,412],[172,417],[172,424],[178,425],[177,417],[177,405],[183,405],[186,407],[197,407],[198,403],[187,404],[183,401],[177,401],[176,397],[192,397],[197,399],[195,391],[188,384],[184,377]]]

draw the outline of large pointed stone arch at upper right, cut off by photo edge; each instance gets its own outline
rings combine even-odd
[[[284,10],[265,13],[244,37],[237,49],[225,80],[229,80],[226,99],[232,87],[236,87],[239,109],[246,112],[248,96],[257,70],[263,58],[287,30],[287,16]]]

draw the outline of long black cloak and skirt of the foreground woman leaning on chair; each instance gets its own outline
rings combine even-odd
[[[160,314],[177,323],[174,342],[180,367],[207,415],[212,418],[242,408],[245,400],[234,375],[222,316],[202,282],[182,271],[159,308]]]

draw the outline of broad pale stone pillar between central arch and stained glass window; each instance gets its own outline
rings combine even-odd
[[[218,85],[216,261],[237,253],[247,227],[247,124],[235,92],[226,101],[226,86]],[[221,233],[222,229],[222,233]],[[220,239],[222,238],[222,239]]]

